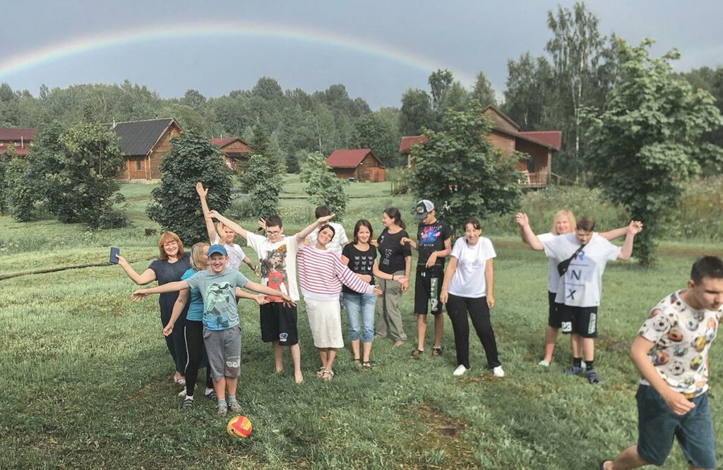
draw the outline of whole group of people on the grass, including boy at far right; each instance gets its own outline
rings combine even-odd
[[[218,414],[225,416],[229,408],[240,410],[235,393],[240,368],[236,303],[241,298],[253,299],[260,306],[262,341],[273,345],[276,372],[283,372],[283,348],[288,346],[294,379],[296,383],[304,380],[296,309],[301,296],[320,357],[316,376],[325,381],[334,377],[336,353],[344,344],[341,304],[348,318],[354,364],[371,370],[375,338],[390,336],[395,347],[407,341],[399,304],[409,289],[411,249],[416,249],[419,257],[414,281],[417,343],[410,357],[425,354],[429,311],[435,318],[431,355],[442,355],[441,314],[445,306],[455,338],[458,365],[453,375],[461,376],[471,369],[468,316],[482,343],[487,367],[497,377],[505,375],[489,314],[495,306],[496,253],[475,218],[466,220],[463,236],[452,243],[450,227],[436,218],[434,204],[421,200],[415,211],[419,220],[416,239],[406,232],[399,210],[387,208],[377,239],[372,224],[361,219],[354,224],[349,241],[343,227],[330,222],[333,214],[322,206],[317,208],[316,221],[293,236],[283,234],[278,215],[262,219],[263,236],[210,210],[208,191],[200,183],[197,192],[208,244],[194,244],[188,254],[178,236],[165,232],[158,240],[159,259],[142,274],[119,256],[119,265],[135,283],[158,281],[156,287],[134,291],[132,299],[161,294],[163,334],[176,366],[174,380],[185,385],[181,393],[184,409],[193,406],[198,371],[206,366],[205,395],[218,401]],[[216,226],[214,220],[218,221]],[[584,375],[593,385],[600,383],[594,368],[594,338],[602,275],[607,262],[630,258],[634,238],[643,224],[631,221],[625,227],[596,232],[593,219],[576,221],[569,210],[560,210],[549,233],[536,235],[526,214],[518,213],[515,221],[523,241],[531,249],[544,251],[549,259],[548,322],[539,365],[549,367],[562,330],[570,334],[573,357],[564,372]],[[257,265],[234,243],[237,234],[256,253]],[[610,242],[623,236],[622,247]],[[260,283],[239,273],[241,262],[260,276]],[[667,296],[651,310],[630,353],[643,376],[637,395],[638,444],[614,461],[602,461],[601,469],[662,464],[674,436],[695,468],[714,468],[706,398],[707,353],[723,320],[722,304],[723,261],[703,257],[693,265],[688,289]],[[664,439],[659,432],[665,434]]]

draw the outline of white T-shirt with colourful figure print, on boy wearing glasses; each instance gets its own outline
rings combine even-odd
[[[271,289],[287,294],[291,299],[299,300],[299,288],[296,284],[296,252],[299,244],[296,236],[284,236],[278,242],[270,242],[265,236],[247,232],[247,242],[259,257],[261,283]],[[270,302],[282,302],[275,296],[267,296]]]

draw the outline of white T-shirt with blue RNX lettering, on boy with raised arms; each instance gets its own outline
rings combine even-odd
[[[542,242],[544,252],[557,264],[567,260],[580,247],[576,234],[558,235]],[[560,280],[555,302],[570,307],[597,307],[602,296],[602,273],[608,261],[617,260],[620,247],[599,234],[592,234],[588,244],[570,262],[568,272]]]

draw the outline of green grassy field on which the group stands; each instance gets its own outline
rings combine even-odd
[[[288,179],[282,195],[290,198],[282,200],[288,233],[307,223],[312,211],[296,200],[300,188]],[[0,218],[0,274],[102,262],[111,245],[121,247],[134,268],[145,269],[157,254],[155,240],[144,234],[145,228],[157,228],[143,216],[150,189],[123,187],[134,223],[113,231]],[[390,197],[389,184],[357,183],[349,189],[355,197],[347,226],[364,216],[379,227],[387,205],[406,214],[414,203],[411,197]],[[0,281],[0,468],[594,469],[600,458],[636,440],[638,375],[627,351],[638,326],[653,304],[685,285],[696,257],[723,252],[712,244],[666,243],[652,270],[628,262],[608,265],[596,356],[602,384],[592,387],[562,375],[570,360],[562,339],[552,366],[536,365],[547,320],[544,256],[513,236],[486,236],[497,249],[492,322],[506,377],[495,379],[484,369],[476,340],[473,369],[453,377],[447,320],[442,357],[411,361],[411,342],[393,349],[390,341],[375,341],[372,372],[354,369],[345,349],[335,379],[320,383],[301,305],[306,380],[295,385],[288,362],[283,374],[272,373],[258,309],[241,302],[238,396],[254,426],[247,440],[226,435],[226,420],[215,416],[210,401],[197,399],[191,412],[181,411],[156,299],[129,302],[135,286],[119,267]],[[412,301],[406,294],[401,305],[410,339],[416,336]],[[709,392],[719,461],[721,351],[714,346],[711,354]],[[664,468],[684,466],[675,446]]]

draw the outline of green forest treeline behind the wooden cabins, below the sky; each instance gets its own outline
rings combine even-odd
[[[553,158],[553,171],[577,177],[590,169],[586,159],[588,116],[604,110],[607,95],[617,85],[615,34],[602,35],[598,19],[584,4],[547,12],[551,37],[539,54],[521,54],[508,61],[506,89],[496,93],[479,72],[465,87],[448,70],[429,76],[426,89],[410,88],[399,107],[375,111],[364,98],[351,98],[342,84],[308,93],[283,90],[271,77],[261,77],[251,90],[233,90],[207,98],[187,90],[181,98],[161,98],[145,85],[83,84],[28,90],[0,85],[0,127],[43,127],[57,120],[65,126],[81,122],[110,123],[161,117],[176,118],[184,129],[205,137],[239,136],[249,141],[259,123],[281,150],[289,171],[310,152],[328,155],[337,148],[372,148],[388,167],[402,166],[398,154],[403,135],[424,129],[440,130],[446,111],[463,111],[477,101],[499,106],[521,130],[562,130],[562,150]],[[702,67],[675,74],[694,88],[707,90],[723,109],[723,67]],[[723,144],[723,130],[703,137]],[[715,173],[716,168],[708,168]]]

